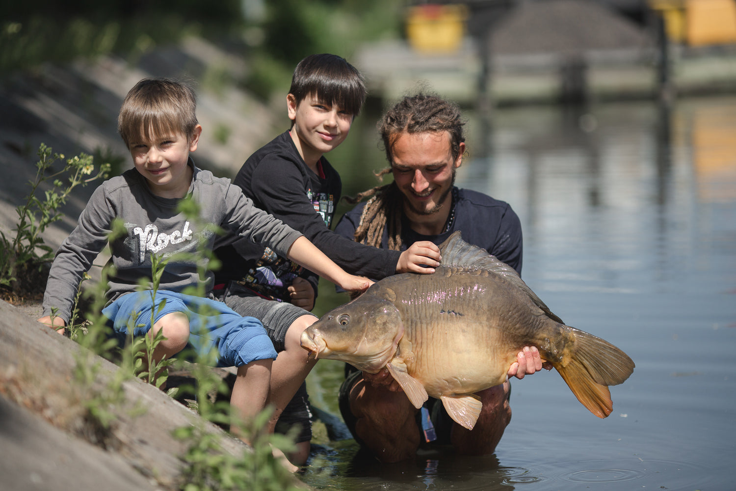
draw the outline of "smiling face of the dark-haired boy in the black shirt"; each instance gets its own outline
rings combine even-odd
[[[347,137],[350,125],[353,124],[353,114],[347,113],[338,105],[319,101],[315,94],[305,97],[297,104],[290,93],[286,96],[286,104],[289,119],[294,121],[291,139],[305,163],[314,170],[322,154],[342,144]]]

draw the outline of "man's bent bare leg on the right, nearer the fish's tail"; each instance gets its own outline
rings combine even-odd
[[[511,406],[509,406],[509,381],[490,387],[478,395],[481,396],[483,408],[473,431],[453,422],[450,441],[455,451],[461,455],[489,455],[495,451],[496,445],[503,436],[503,431],[511,422]]]

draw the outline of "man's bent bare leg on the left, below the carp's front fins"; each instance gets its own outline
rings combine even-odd
[[[384,463],[411,459],[420,445],[417,409],[403,392],[358,378],[350,389],[355,434]]]

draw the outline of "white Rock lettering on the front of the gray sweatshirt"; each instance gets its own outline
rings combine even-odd
[[[124,239],[124,244],[127,250],[130,250],[130,262],[136,266],[145,264],[151,254],[160,254],[163,258],[169,258],[179,252],[195,252],[202,239],[207,241],[213,236],[209,230],[194,233],[188,221],[184,222],[180,229],[168,232],[158,230],[158,226],[152,223],[143,226],[126,223],[125,228],[128,234]]]

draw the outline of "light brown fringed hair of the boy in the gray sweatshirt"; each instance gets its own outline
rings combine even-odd
[[[182,82],[144,79],[130,89],[118,114],[118,133],[126,145],[197,127],[197,96]]]

